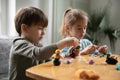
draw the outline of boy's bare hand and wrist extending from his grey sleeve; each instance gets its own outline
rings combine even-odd
[[[60,40],[56,44],[59,49],[62,49],[64,47],[68,47],[68,46],[77,47],[80,44],[80,42],[75,37],[67,37],[67,38]]]

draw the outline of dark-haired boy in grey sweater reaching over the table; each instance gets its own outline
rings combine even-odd
[[[46,15],[38,8],[20,9],[15,16],[15,28],[19,37],[13,41],[10,52],[9,80],[32,80],[25,76],[25,70],[50,58],[56,49],[67,46],[76,47],[79,40],[75,37],[62,39],[54,44],[42,47],[48,25]]]

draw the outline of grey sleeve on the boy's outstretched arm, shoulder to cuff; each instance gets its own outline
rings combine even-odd
[[[15,55],[43,60],[49,58],[57,49],[57,46],[56,44],[52,44],[45,47],[38,47],[24,39],[18,39],[14,41],[12,48],[12,52]]]

